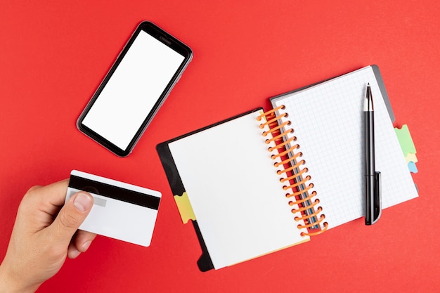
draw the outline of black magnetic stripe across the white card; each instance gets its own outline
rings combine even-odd
[[[129,202],[130,204],[148,207],[150,209],[159,209],[160,197],[155,197],[145,193],[138,193],[137,191],[120,188],[115,185],[110,185],[75,175],[70,175],[69,187],[84,190],[96,195],[110,197],[114,200],[121,200],[122,202]]]

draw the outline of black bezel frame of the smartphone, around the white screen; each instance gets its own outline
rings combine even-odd
[[[129,48],[131,47],[131,44],[133,44],[134,40],[138,36],[138,34],[143,31],[147,34],[150,34],[150,36],[154,37],[158,41],[161,41],[162,44],[168,46],[169,48],[172,48],[177,53],[181,54],[184,59],[181,65],[179,66],[178,70],[174,73],[172,79],[170,79],[169,83],[165,87],[164,91],[160,95],[160,97],[157,99],[155,105],[153,106],[152,110],[148,113],[147,117],[145,117],[143,123],[139,127],[138,131],[136,131],[136,134],[133,138],[131,138],[131,141],[126,149],[122,150],[121,148],[117,147],[115,144],[108,141],[106,138],[101,136],[100,134],[96,133],[96,131],[93,131],[89,127],[85,126],[82,122],[84,120],[84,117],[89,113],[89,110],[93,107],[93,104],[95,103],[98,96],[101,94],[105,86],[108,84],[108,81],[110,80],[110,77],[112,77],[112,74],[115,72],[116,68],[118,67],[119,63],[121,63],[124,56],[127,54],[127,51],[129,51]],[[164,38],[164,40],[160,38]],[[107,148],[111,152],[113,152],[115,155],[119,157],[127,157],[133,150],[134,146],[138,142],[138,140],[141,138],[143,132],[147,128],[148,124],[153,120],[153,117],[155,117],[156,112],[159,110],[160,106],[164,103],[165,99],[171,92],[174,84],[179,81],[179,78],[183,71],[186,69],[188,64],[190,63],[190,60],[193,58],[193,51],[190,49],[189,46],[186,44],[183,44],[182,41],[179,41],[179,39],[176,39],[168,32],[165,32],[160,27],[155,25],[153,22],[150,21],[143,21],[141,24],[136,27],[136,30],[131,35],[129,41],[127,41],[127,44],[125,44],[124,48],[122,48],[121,53],[119,53],[119,56],[117,56],[115,63],[113,63],[112,67],[108,71],[108,73],[105,75],[103,81],[98,86],[98,89],[96,89],[95,93],[93,93],[93,96],[91,97],[91,100],[86,105],[86,108],[84,108],[81,115],[79,115],[79,118],[77,120],[77,128],[79,131],[82,131],[82,133],[86,134],[86,136],[89,136],[97,143],[103,145],[103,147]]]

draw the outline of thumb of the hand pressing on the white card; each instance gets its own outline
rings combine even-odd
[[[93,197],[89,193],[81,191],[72,195],[52,223],[56,230],[54,237],[59,241],[69,243],[92,206]]]

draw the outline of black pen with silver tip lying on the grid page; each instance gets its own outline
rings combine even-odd
[[[372,225],[380,218],[382,204],[380,172],[375,170],[375,116],[370,84],[367,84],[365,91],[363,116],[365,119],[365,225]]]

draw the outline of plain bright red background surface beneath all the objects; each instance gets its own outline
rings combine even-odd
[[[98,236],[39,292],[433,292],[440,285],[439,1],[0,2],[0,259],[32,185],[71,169],[161,190],[148,248]],[[121,159],[77,131],[80,112],[141,20],[186,42],[193,62],[134,152]],[[380,66],[418,150],[420,197],[366,227],[200,273],[155,145],[268,97]],[[313,119],[313,117],[304,117]],[[343,192],[343,191],[342,191]]]

